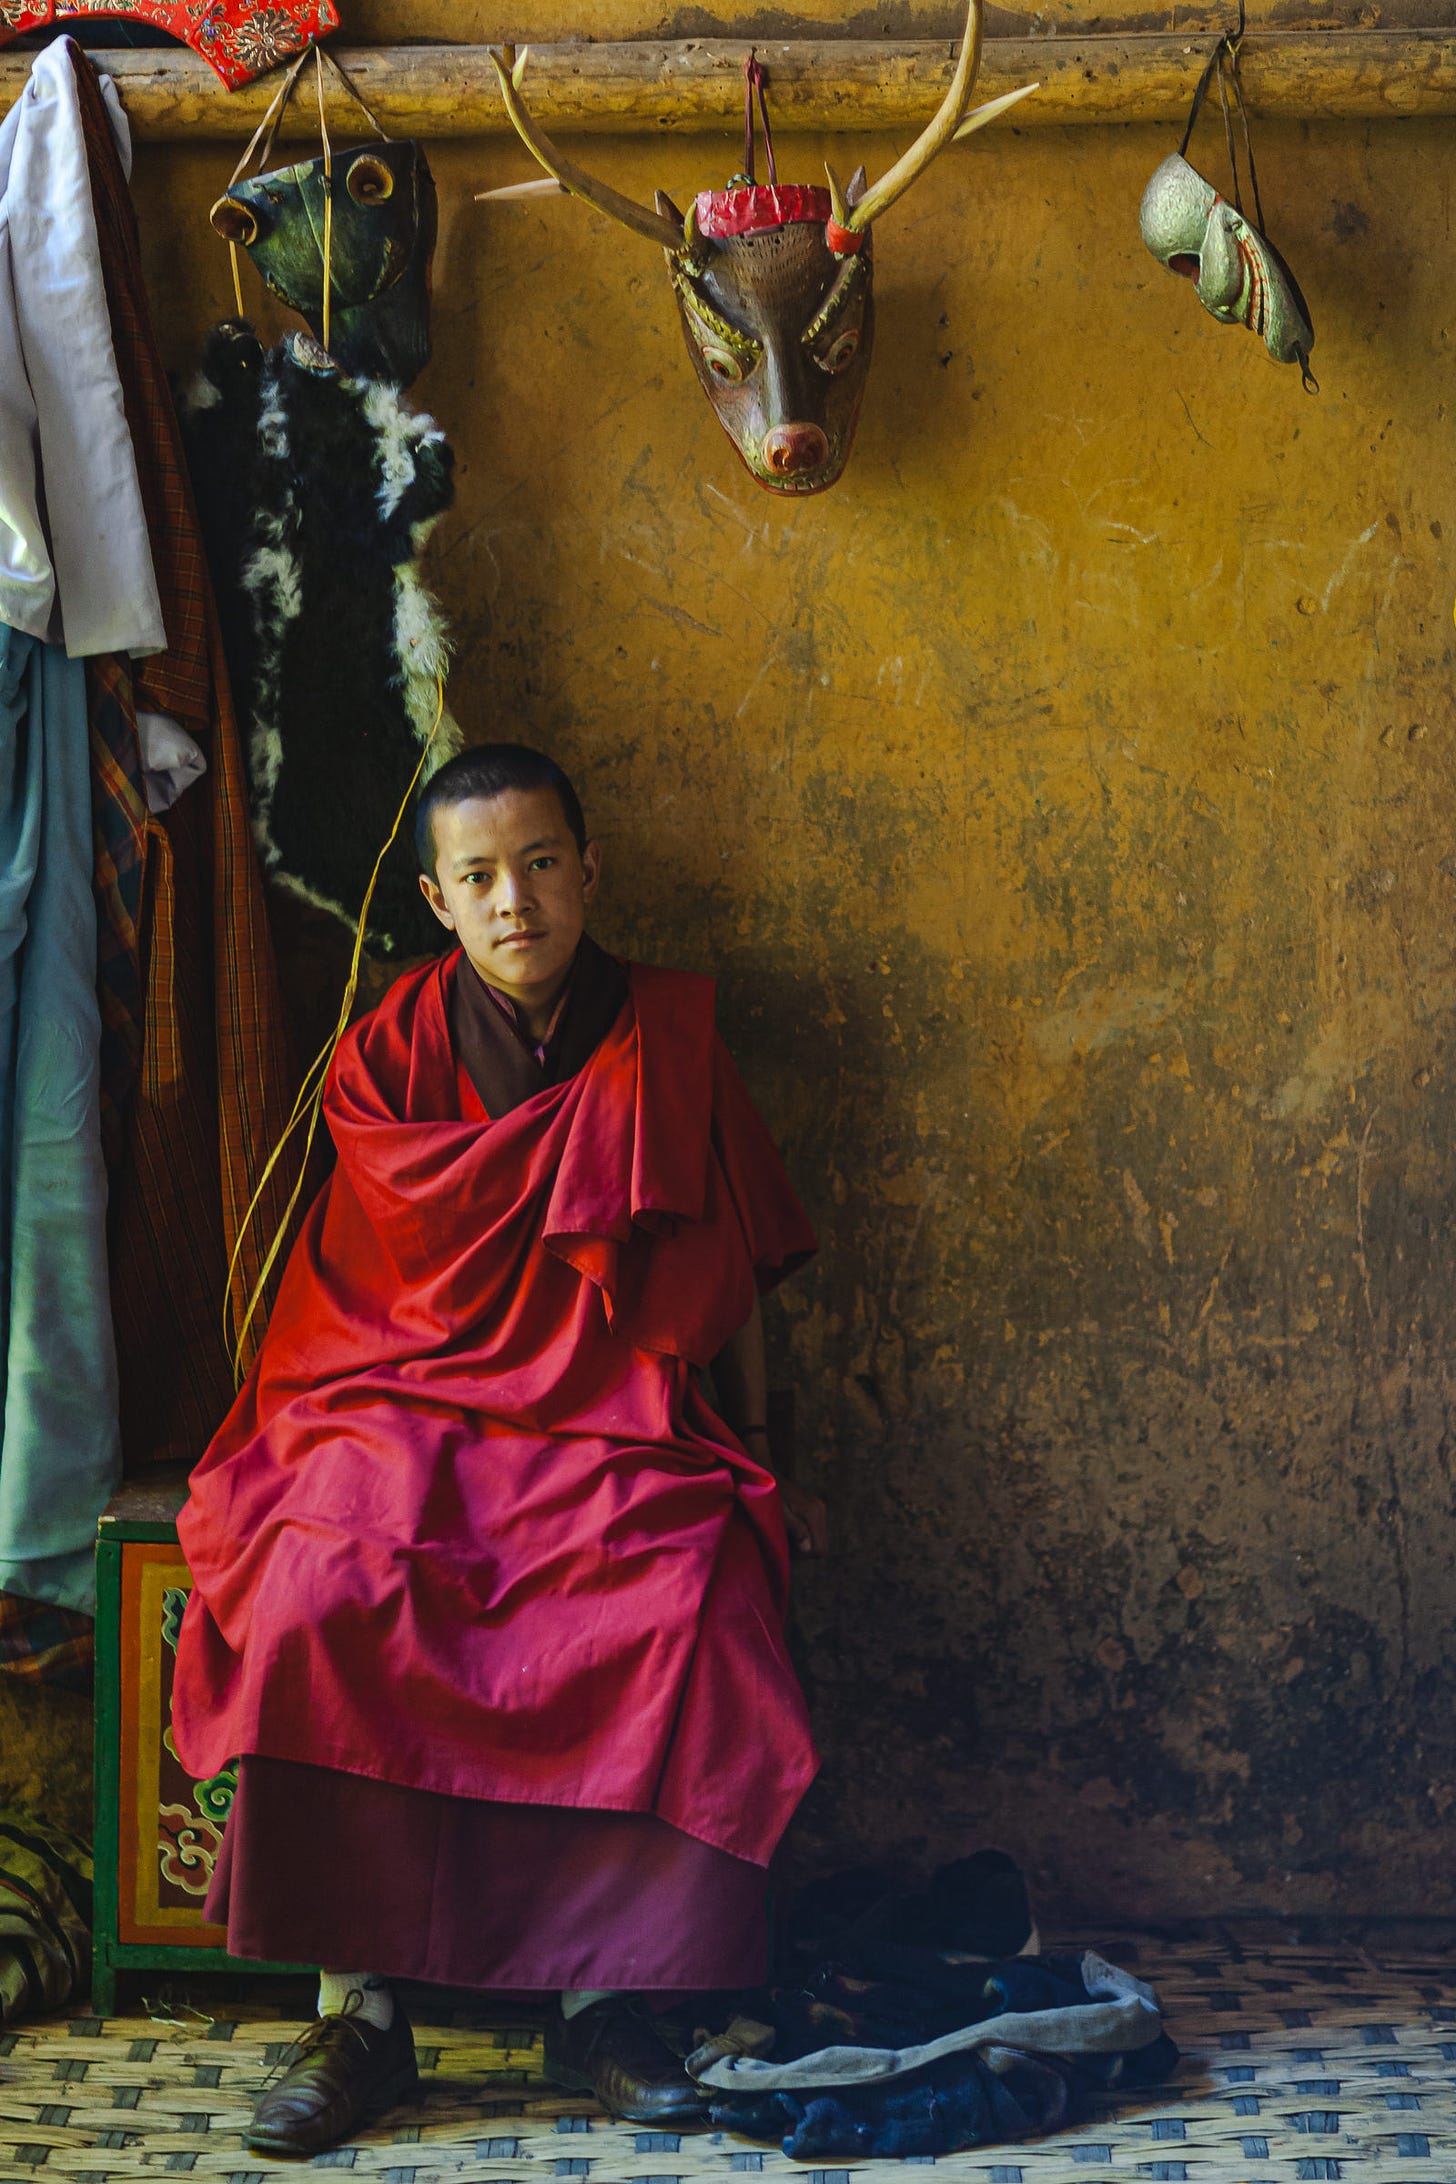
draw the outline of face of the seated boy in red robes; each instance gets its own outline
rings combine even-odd
[[[600,847],[576,847],[554,788],[502,788],[434,812],[419,887],[480,976],[530,1007],[570,970],[598,874]]]

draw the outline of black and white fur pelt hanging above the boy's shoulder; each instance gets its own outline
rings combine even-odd
[[[450,448],[395,387],[349,378],[308,334],[264,354],[242,321],[210,336],[183,430],[264,869],[354,928],[445,675],[419,553],[452,500]],[[445,714],[428,771],[458,747]],[[441,941],[406,819],[369,948]]]

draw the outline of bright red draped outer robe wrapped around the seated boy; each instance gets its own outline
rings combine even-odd
[[[585,1068],[480,1123],[456,963],[338,1051],[338,1166],[179,1527],[177,1747],[762,1865],[814,1771],[784,1522],[694,1367],[812,1232],[707,978],[633,968]]]

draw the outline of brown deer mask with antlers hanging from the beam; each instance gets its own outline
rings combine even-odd
[[[864,168],[840,190],[779,183],[764,76],[749,59],[749,100],[757,90],[768,181],[753,179],[753,120],[744,129],[744,168],[727,190],[701,190],[688,216],[657,192],[648,212],[568,159],[526,111],[526,55],[491,48],[506,111],[554,186],[607,212],[622,227],[661,245],[683,321],[688,354],[718,424],[760,485],[775,494],[819,494],[834,485],[860,415],[873,339],[871,223],[954,138],[982,129],[1037,85],[989,100],[967,118],[980,63],[980,0],[969,0],[965,41],[941,109],[910,151],[867,186]],[[487,190],[520,197],[552,183]]]

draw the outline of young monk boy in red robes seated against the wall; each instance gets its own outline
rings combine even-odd
[[[561,1992],[557,2084],[701,2121],[633,1996],[762,1977],[814,1771],[781,1623],[823,1505],[768,1468],[757,1313],[814,1238],[712,981],[585,935],[539,751],[461,753],[417,832],[458,948],[338,1048],[338,1164],[179,1527],[177,1749],[242,1756],[207,1911],[327,1968],[268,2153],[413,2090],[393,1979]]]

